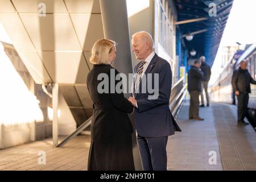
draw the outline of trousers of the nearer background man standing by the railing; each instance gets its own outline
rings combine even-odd
[[[190,102],[189,102],[189,118],[199,117],[199,91],[191,91]]]

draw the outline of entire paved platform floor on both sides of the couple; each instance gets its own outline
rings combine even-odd
[[[182,132],[168,139],[168,170],[256,170],[256,133],[237,126],[236,106],[200,107],[204,121],[188,120],[188,107],[184,102],[177,117]],[[86,170],[89,147],[90,136],[80,135],[61,148],[51,138],[6,148],[0,170]],[[46,164],[38,164],[39,151],[46,152]],[[209,164],[214,156],[216,164]]]

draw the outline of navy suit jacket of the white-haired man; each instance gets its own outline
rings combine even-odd
[[[135,66],[134,72],[137,73],[139,64]],[[141,137],[166,137],[173,135],[175,131],[181,131],[169,109],[169,100],[172,86],[172,71],[170,64],[155,54],[148,65],[144,76],[139,84],[146,84],[147,76],[152,73],[152,88],[154,88],[154,73],[159,74],[159,96],[154,100],[148,99],[148,96],[154,93],[134,94],[137,100],[138,108],[134,110],[135,127]],[[135,82],[135,81],[134,81]],[[156,85],[157,86],[157,85]]]

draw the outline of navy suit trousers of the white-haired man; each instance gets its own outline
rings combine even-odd
[[[168,137],[137,136],[139,154],[144,171],[166,171],[166,145]]]

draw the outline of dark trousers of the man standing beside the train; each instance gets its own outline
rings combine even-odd
[[[243,121],[248,111],[247,105],[249,101],[249,94],[240,92],[239,96],[237,96],[237,100],[237,119],[238,121]]]

